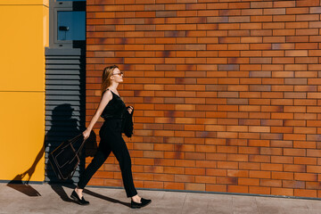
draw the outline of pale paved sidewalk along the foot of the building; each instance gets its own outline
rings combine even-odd
[[[138,190],[152,203],[132,210],[123,189],[86,188],[89,206],[80,206],[69,198],[72,186],[0,184],[0,213],[216,213],[216,214],[318,214],[321,201],[243,196],[214,193],[180,193]]]

